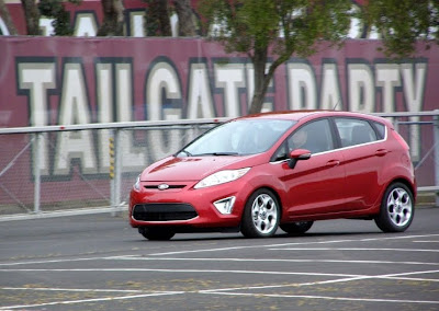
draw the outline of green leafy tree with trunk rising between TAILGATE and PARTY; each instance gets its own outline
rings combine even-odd
[[[202,0],[199,10],[205,26],[218,24],[212,34],[226,51],[245,53],[255,72],[255,94],[249,113],[261,111],[275,69],[293,54],[309,56],[318,43],[346,38],[350,0]],[[266,72],[269,55],[273,59]]]

